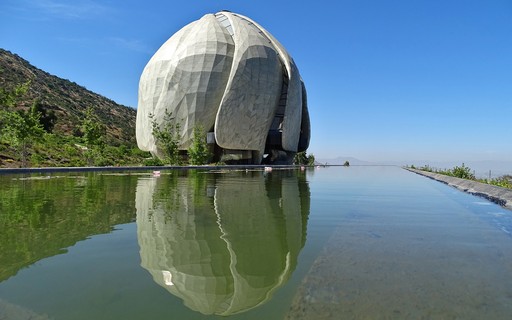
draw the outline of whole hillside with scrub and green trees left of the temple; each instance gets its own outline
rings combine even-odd
[[[141,164],[149,154],[136,148],[135,118],[135,109],[0,49],[0,167]]]

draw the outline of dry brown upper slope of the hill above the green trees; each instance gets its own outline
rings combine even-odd
[[[0,88],[9,90],[27,81],[30,81],[30,88],[18,105],[29,107],[37,101],[43,112],[54,113],[54,133],[79,135],[77,128],[86,109],[91,107],[107,128],[107,143],[135,145],[135,109],[51,75],[0,48]]]

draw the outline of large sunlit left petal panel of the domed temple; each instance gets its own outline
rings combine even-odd
[[[141,149],[156,151],[150,114],[157,123],[166,111],[174,116],[182,128],[183,149],[190,145],[195,125],[213,128],[233,52],[232,37],[212,14],[164,43],[144,69],[139,86],[137,141]]]

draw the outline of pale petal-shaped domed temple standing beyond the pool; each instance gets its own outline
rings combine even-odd
[[[180,127],[182,154],[196,126],[214,161],[287,164],[309,146],[306,90],[293,59],[256,22],[228,11],[179,30],[142,72],[137,143],[159,157],[152,124],[166,113]]]

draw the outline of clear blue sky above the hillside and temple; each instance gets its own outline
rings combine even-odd
[[[0,47],[136,107],[152,54],[223,9],[294,58],[317,158],[512,163],[510,0],[2,0]]]

